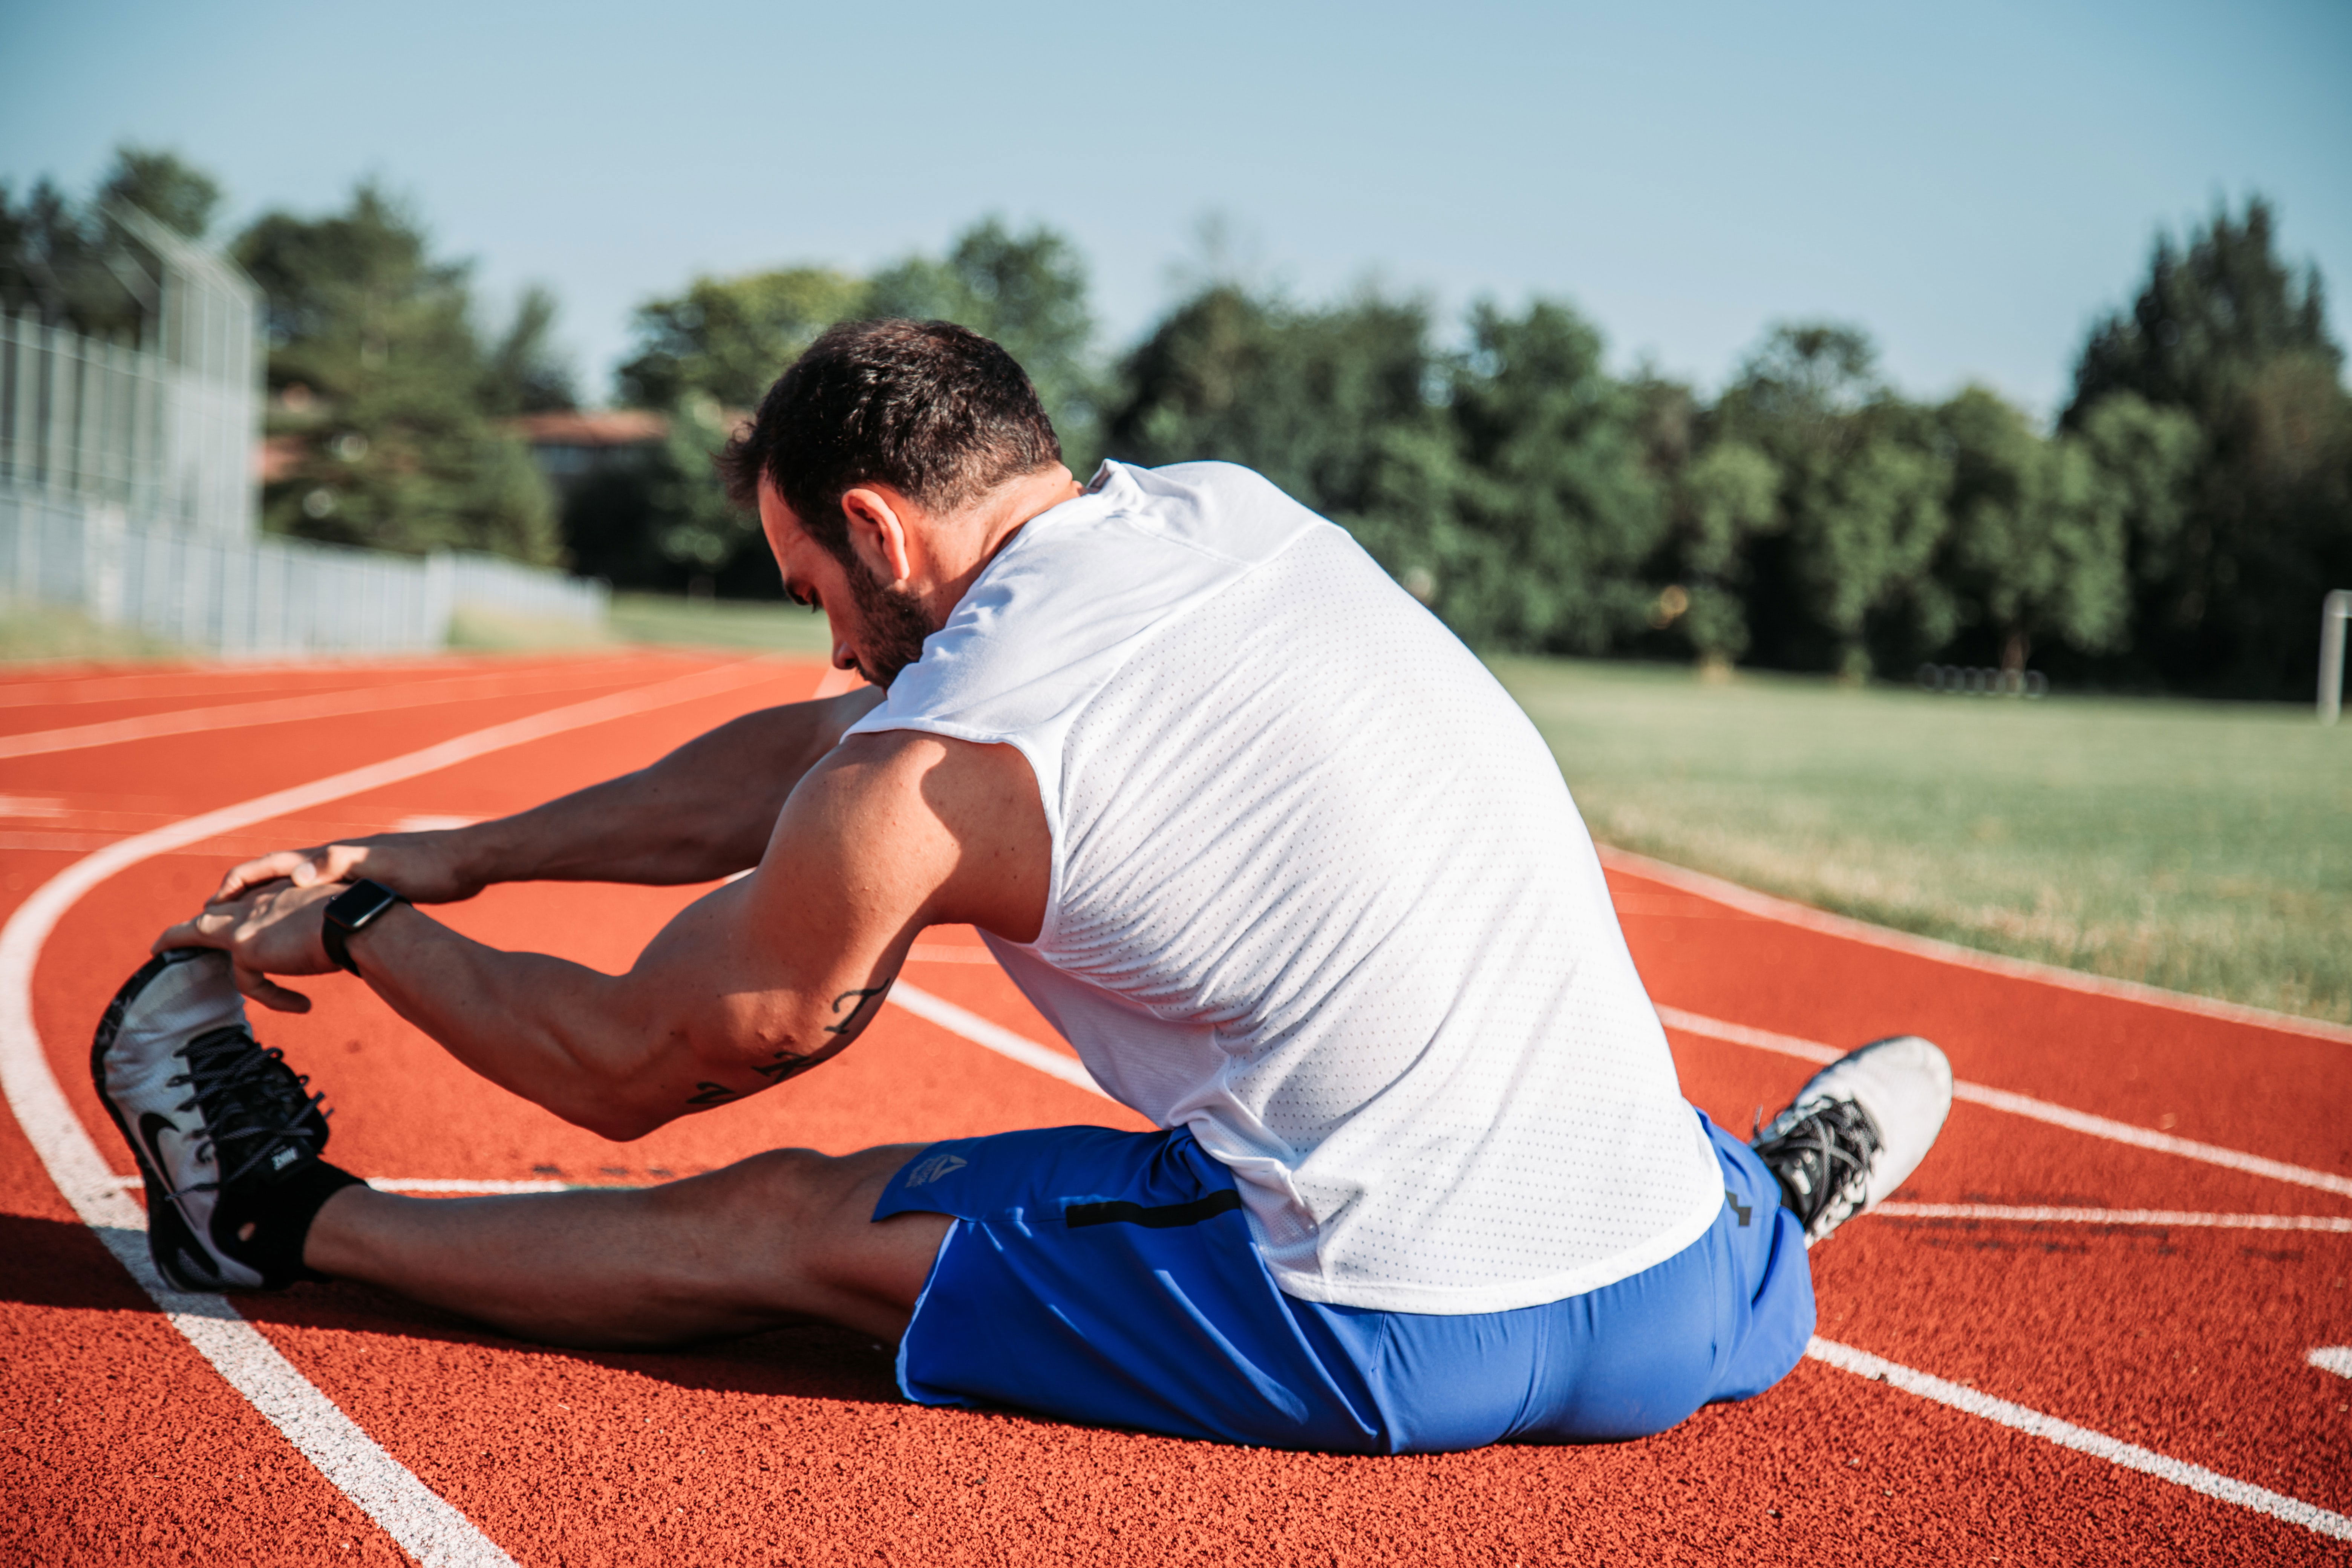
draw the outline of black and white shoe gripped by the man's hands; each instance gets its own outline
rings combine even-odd
[[[226,954],[174,947],[148,959],[108,1004],[89,1074],[139,1159],[148,1251],[172,1288],[315,1279],[301,1267],[301,1234],[358,1178],[320,1159],[320,1095],[254,1039]]]

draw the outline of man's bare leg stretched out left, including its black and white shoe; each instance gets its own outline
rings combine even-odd
[[[562,1345],[670,1345],[826,1319],[898,1338],[948,1232],[875,1225],[922,1145],[779,1150],[663,1187],[402,1199],[329,1166],[306,1081],[261,1048],[228,959],[160,952],[89,1056],[146,1180],[148,1248],[181,1291],[365,1279]]]

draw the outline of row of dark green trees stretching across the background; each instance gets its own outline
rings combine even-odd
[[[524,501],[510,454],[487,456],[501,416],[572,400],[546,348],[553,301],[475,327],[463,268],[372,186],[343,214],[266,214],[230,249],[270,296],[280,407],[292,386],[315,400],[315,468],[270,510],[313,536],[419,548],[473,529],[616,583],[776,592],[710,449],[830,322],[927,315],[1028,367],[1073,468],[1249,463],[1482,649],[1849,677],[2030,663],[2074,684],[2305,696],[2319,595],[2352,585],[2343,350],[2317,270],[2281,261],[2258,197],[2154,242],[2051,430],[1980,386],[1905,397],[1842,322],[1771,327],[1712,397],[1618,376],[1559,299],[1442,320],[1411,294],[1301,301],[1207,277],[1105,353],[1070,240],[988,219],[870,275],[797,266],[647,299],[614,400],[666,414],[668,437],[572,487],[560,520],[546,487]],[[372,461],[416,480],[433,440],[473,454],[440,510],[358,482]],[[320,473],[350,480],[327,515]]]

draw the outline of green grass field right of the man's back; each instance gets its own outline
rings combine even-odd
[[[2352,724],[1496,661],[1592,835],[1969,947],[2352,1023]]]

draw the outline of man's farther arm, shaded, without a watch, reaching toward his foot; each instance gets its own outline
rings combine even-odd
[[[880,701],[858,689],[748,712],[635,773],[470,827],[282,849],[233,867],[212,900],[278,879],[372,877],[412,903],[456,903],[496,882],[731,877],[760,863],[793,788]]]

